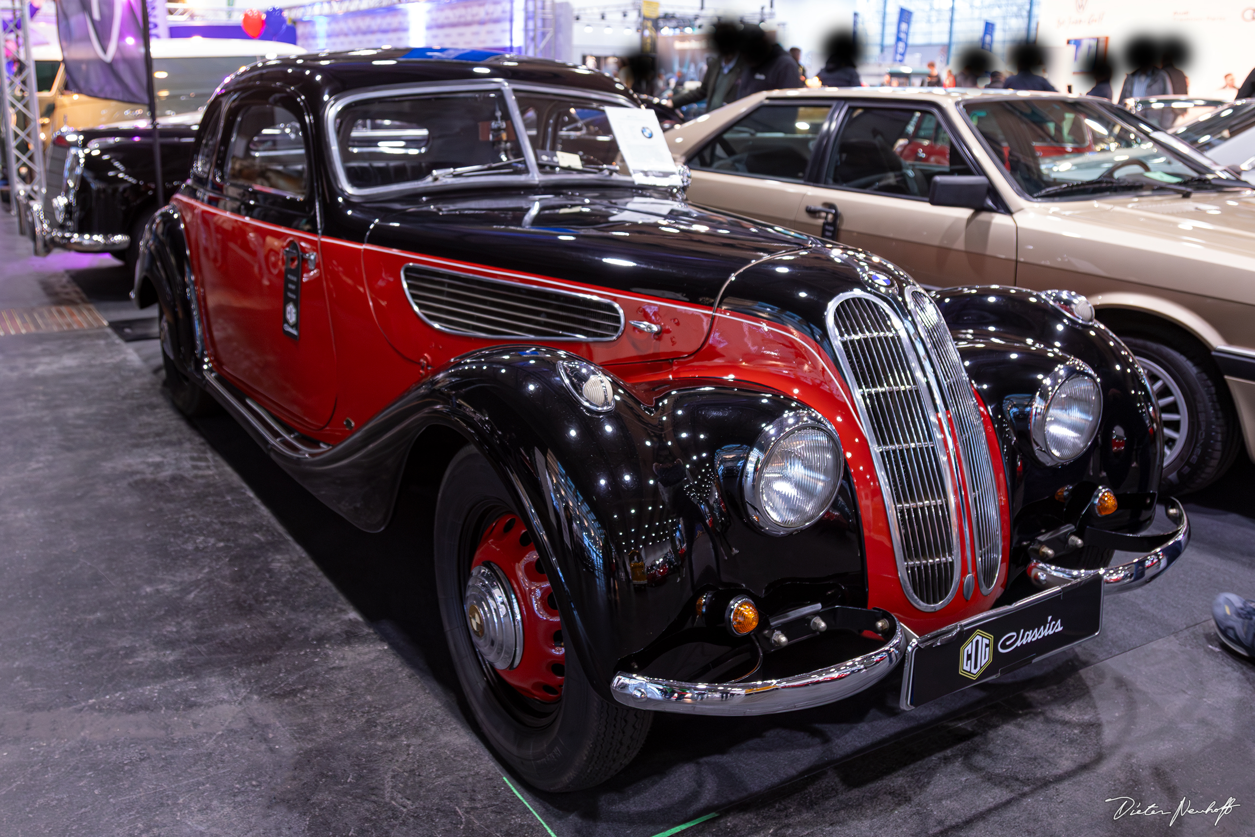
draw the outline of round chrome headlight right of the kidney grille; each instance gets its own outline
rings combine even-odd
[[[1072,462],[1089,448],[1102,418],[1102,390],[1078,361],[1060,364],[1033,398],[1029,427],[1038,458],[1048,466]]]

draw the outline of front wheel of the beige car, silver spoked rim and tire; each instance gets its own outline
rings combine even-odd
[[[1234,409],[1222,378],[1201,356],[1123,338],[1155,393],[1163,423],[1165,493],[1183,494],[1217,479],[1237,453]]]

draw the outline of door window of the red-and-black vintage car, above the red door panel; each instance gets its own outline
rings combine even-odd
[[[295,104],[289,108],[267,102],[242,104],[232,110],[220,172],[223,191],[232,197],[242,197],[252,189],[304,198],[307,166]]]

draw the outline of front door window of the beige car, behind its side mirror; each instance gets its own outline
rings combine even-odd
[[[841,127],[826,182],[852,189],[927,197],[936,174],[971,174],[931,110],[852,108]]]

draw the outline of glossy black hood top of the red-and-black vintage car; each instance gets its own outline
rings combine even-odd
[[[369,245],[698,305],[714,305],[747,265],[820,246],[649,191],[441,196],[364,215],[378,218]]]

